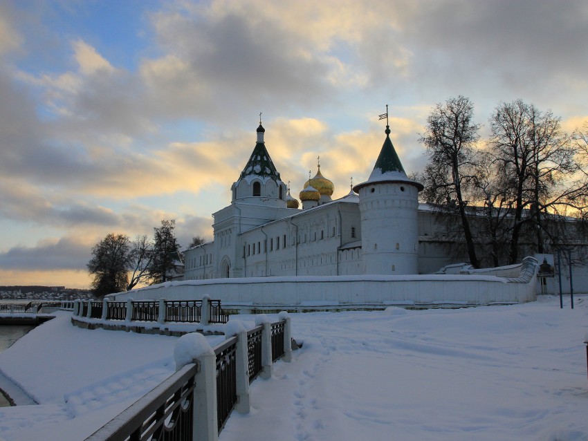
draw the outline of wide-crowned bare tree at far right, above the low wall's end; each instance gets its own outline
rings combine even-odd
[[[551,112],[522,100],[501,103],[490,118],[490,128],[498,191],[510,207],[509,263],[516,263],[523,237],[540,253],[546,251],[546,243],[561,240],[564,233],[553,229],[560,225],[546,218],[564,216],[570,208],[585,209],[588,187],[576,178],[582,173],[577,144]]]

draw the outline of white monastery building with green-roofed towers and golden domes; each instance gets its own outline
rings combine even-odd
[[[333,182],[319,164],[300,208],[260,122],[230,205],[213,214],[214,240],[185,250],[183,279],[431,274],[453,263],[434,239],[434,212],[419,205],[423,185],[407,177],[389,134],[386,126],[374,170],[347,196],[331,199]]]

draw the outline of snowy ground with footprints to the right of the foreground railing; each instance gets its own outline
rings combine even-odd
[[[585,441],[587,306],[292,315],[304,347],[220,439]]]

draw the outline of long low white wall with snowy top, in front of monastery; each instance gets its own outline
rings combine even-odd
[[[431,305],[455,303],[490,305],[533,301],[537,261],[526,258],[519,276],[480,275],[404,276],[279,276],[175,281],[111,294],[112,300],[201,299],[208,294],[230,305]]]

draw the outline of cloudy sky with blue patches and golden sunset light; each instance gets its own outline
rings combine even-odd
[[[583,0],[0,3],[0,285],[89,288],[91,247],[176,219],[182,247],[253,147],[297,197],[374,167],[389,105],[407,172],[432,107],[464,95],[488,133],[522,99],[588,121]]]

